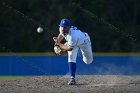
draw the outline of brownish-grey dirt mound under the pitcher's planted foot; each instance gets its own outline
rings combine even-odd
[[[1,80],[0,93],[140,93],[140,76],[78,75],[77,85],[68,76],[33,76]]]

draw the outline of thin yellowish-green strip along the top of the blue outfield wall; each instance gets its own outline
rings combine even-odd
[[[66,56],[65,53],[64,56]],[[140,56],[140,53],[131,52],[93,52],[94,56]],[[56,56],[54,52],[5,52],[0,56]]]

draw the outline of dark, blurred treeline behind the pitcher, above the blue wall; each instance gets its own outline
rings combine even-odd
[[[0,0],[0,52],[52,51],[64,17],[89,33],[95,52],[139,52],[139,16],[139,0]]]

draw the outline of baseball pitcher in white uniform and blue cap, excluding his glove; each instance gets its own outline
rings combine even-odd
[[[63,18],[60,21],[59,32],[59,35],[53,37],[53,40],[57,46],[68,52],[68,65],[71,77],[68,85],[75,85],[76,58],[78,50],[81,50],[83,61],[86,64],[91,64],[93,61],[90,37],[87,33],[72,26],[67,18]],[[60,43],[63,38],[67,41],[67,45]]]

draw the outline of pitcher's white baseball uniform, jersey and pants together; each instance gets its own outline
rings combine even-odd
[[[93,61],[92,48],[90,37],[87,33],[81,32],[77,27],[71,26],[68,33],[63,35],[66,39],[68,46],[73,48],[72,51],[68,51],[68,61],[76,62],[77,52],[80,48],[83,55],[83,61],[86,64],[90,64]]]

